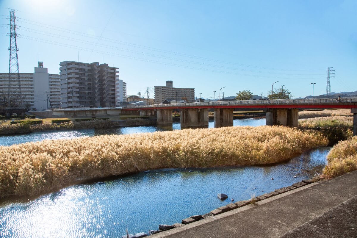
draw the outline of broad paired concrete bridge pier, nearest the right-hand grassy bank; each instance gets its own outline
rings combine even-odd
[[[299,110],[297,108],[270,108],[266,113],[266,125],[297,127],[299,125]]]

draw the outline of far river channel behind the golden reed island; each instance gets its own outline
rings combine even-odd
[[[233,120],[233,126],[261,126],[265,125],[265,119],[236,119]],[[208,122],[208,128],[213,128],[214,122]],[[207,128],[207,127],[205,127]],[[81,136],[98,136],[98,135],[124,135],[155,131],[172,131],[180,130],[180,123],[172,125],[157,126],[135,126],[135,127],[110,127],[97,129],[81,129],[75,131],[47,131],[33,132],[27,134],[5,135],[0,136],[0,146],[10,146],[30,141],[42,141],[51,139],[72,139]]]

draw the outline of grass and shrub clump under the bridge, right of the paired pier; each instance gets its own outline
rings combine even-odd
[[[299,120],[299,127],[322,132],[329,140],[330,146],[346,140],[353,134],[353,117],[332,116]]]

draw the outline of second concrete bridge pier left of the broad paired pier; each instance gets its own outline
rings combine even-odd
[[[182,127],[208,127],[208,108],[183,108],[180,115]]]

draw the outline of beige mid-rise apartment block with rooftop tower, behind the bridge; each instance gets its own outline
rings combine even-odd
[[[172,81],[166,81],[166,86],[155,86],[155,104],[164,100],[177,100],[186,98],[188,102],[195,100],[195,88],[175,88]]]

